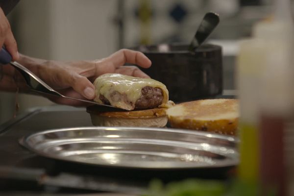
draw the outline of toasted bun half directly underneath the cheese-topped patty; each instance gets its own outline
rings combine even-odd
[[[95,126],[141,126],[164,127],[168,123],[167,108],[148,110],[100,110],[97,106],[87,107]]]

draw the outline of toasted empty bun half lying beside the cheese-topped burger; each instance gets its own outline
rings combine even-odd
[[[237,99],[203,99],[184,102],[167,110],[169,123],[186,128],[235,135],[239,120]]]

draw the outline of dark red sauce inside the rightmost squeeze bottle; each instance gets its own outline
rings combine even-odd
[[[285,118],[262,115],[260,124],[260,175],[263,196],[285,196]]]

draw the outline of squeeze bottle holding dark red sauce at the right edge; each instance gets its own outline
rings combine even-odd
[[[262,194],[287,195],[285,129],[293,111],[293,20],[290,0],[276,0],[272,21],[259,23],[264,61],[259,99],[259,150]]]

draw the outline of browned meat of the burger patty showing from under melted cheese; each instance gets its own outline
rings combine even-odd
[[[135,103],[136,109],[148,109],[148,108],[155,108],[158,107],[163,100],[163,92],[158,87],[150,87],[146,86],[142,88],[141,90],[142,96],[139,98]],[[118,92],[114,95],[118,95]],[[125,98],[125,96],[121,95],[121,98]],[[99,95],[99,99],[104,104],[110,104],[109,100],[105,98],[103,95]],[[128,100],[125,100],[125,102],[128,102]]]

